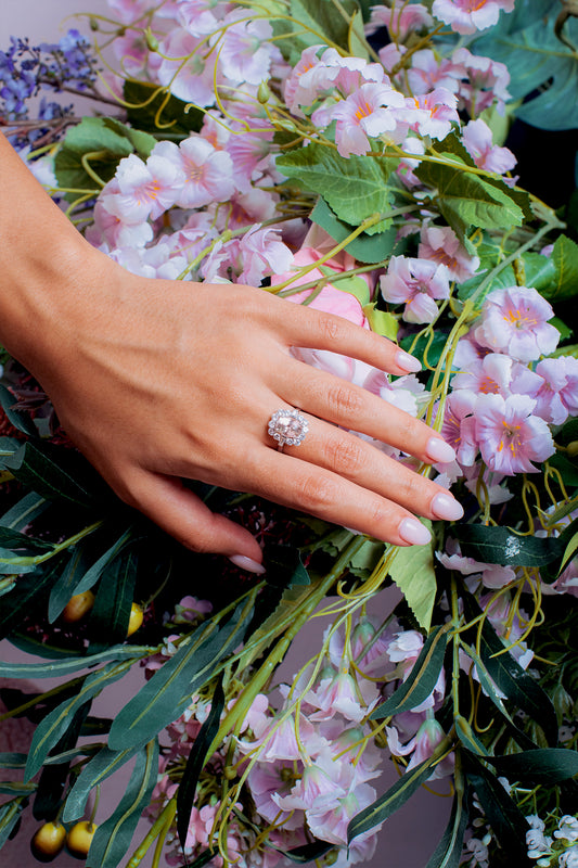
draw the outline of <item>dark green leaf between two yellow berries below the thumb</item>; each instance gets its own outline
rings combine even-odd
[[[90,651],[99,652],[121,642],[127,635],[130,609],[134,598],[138,554],[125,549],[108,562],[101,574],[94,607],[90,612]],[[147,739],[149,741],[150,739]]]

